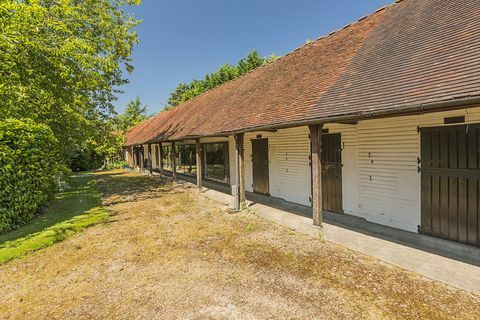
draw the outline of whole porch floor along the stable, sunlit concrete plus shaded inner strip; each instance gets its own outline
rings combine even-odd
[[[156,174],[156,173],[154,173]],[[171,178],[170,173],[166,175]],[[235,202],[225,184],[205,181],[201,189],[192,177],[179,175],[177,183],[228,207]],[[308,236],[319,237],[312,224],[311,208],[280,198],[246,192],[249,210],[264,219]],[[478,248],[428,235],[416,234],[368,222],[348,214],[323,211],[322,239],[339,244],[427,278],[472,292],[480,288]]]

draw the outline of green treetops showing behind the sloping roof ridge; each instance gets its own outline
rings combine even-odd
[[[277,59],[277,57],[274,55],[260,58],[258,52],[253,50],[247,55],[247,57],[238,61],[238,63],[234,66],[225,64],[216,72],[207,74],[203,80],[193,80],[189,84],[180,83],[175,91],[170,94],[167,109],[199,96],[208,90],[244,75],[251,70],[263,66],[275,59]]]

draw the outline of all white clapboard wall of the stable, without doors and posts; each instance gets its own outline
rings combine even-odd
[[[343,207],[345,213],[368,221],[416,232],[420,224],[420,155],[418,126],[443,125],[445,117],[465,115],[480,122],[480,107],[468,110],[360,121],[357,125],[328,124],[342,134]],[[252,191],[251,139],[269,140],[270,193],[310,205],[311,174],[308,128],[245,134],[246,190]],[[234,142],[230,168],[234,177]],[[233,180],[232,180],[233,181]]]

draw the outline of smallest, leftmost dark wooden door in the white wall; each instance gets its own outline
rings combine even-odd
[[[268,139],[252,140],[253,192],[270,195]]]

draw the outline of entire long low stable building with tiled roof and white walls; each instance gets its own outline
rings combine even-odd
[[[480,5],[403,0],[127,133],[132,165],[480,245]]]

